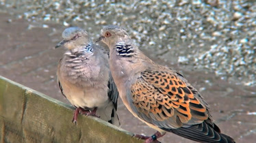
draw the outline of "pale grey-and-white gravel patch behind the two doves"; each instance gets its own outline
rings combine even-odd
[[[215,72],[222,79],[256,85],[256,1],[4,1],[32,22],[85,27],[120,25],[159,59]],[[48,27],[48,25],[41,25]]]

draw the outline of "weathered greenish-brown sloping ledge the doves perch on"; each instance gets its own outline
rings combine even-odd
[[[0,76],[1,142],[142,142],[132,133]]]

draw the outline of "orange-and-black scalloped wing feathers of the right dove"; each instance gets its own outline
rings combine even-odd
[[[140,114],[155,121],[176,120],[181,127],[190,120],[204,121],[207,108],[194,96],[191,87],[175,74],[145,71],[131,86],[133,105]],[[173,123],[173,122],[172,122]]]

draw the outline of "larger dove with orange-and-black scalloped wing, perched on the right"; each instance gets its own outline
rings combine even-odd
[[[136,137],[153,142],[172,132],[197,142],[234,142],[213,123],[199,91],[179,72],[146,57],[123,28],[104,27],[100,40],[110,48],[110,70],[123,103],[157,130]]]

